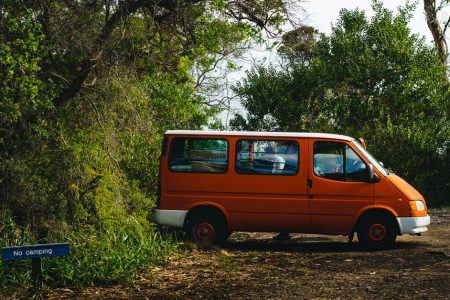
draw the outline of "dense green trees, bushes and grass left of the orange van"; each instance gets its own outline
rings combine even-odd
[[[2,1],[0,244],[69,240],[73,255],[44,265],[56,284],[117,282],[169,255],[174,241],[149,229],[162,135],[220,127],[201,96],[218,87],[208,74],[236,69],[240,46],[279,30],[284,8]],[[0,285],[25,286],[22,270],[2,263]]]

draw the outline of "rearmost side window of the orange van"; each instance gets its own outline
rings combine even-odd
[[[169,151],[173,172],[225,173],[228,142],[223,139],[173,138]]]

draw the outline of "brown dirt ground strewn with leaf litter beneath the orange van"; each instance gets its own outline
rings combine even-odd
[[[450,299],[450,210],[422,236],[368,252],[345,237],[233,233],[222,249],[186,250],[136,283],[56,289],[49,299]],[[356,240],[356,238],[355,238]]]

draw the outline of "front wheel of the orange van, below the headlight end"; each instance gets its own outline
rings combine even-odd
[[[358,240],[369,250],[390,249],[394,246],[398,229],[395,220],[386,214],[370,214],[360,221]]]

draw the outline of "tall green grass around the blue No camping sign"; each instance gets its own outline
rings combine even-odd
[[[2,246],[33,244],[31,235],[22,232],[22,240],[12,243],[4,237]],[[152,228],[117,226],[96,231],[91,227],[66,235],[70,255],[42,260],[45,286],[86,286],[129,282],[139,270],[163,263],[176,250],[171,235],[161,235]],[[0,260],[0,289],[26,290],[31,286],[30,260]],[[1,294],[0,294],[1,295]],[[0,296],[1,297],[1,296]]]

